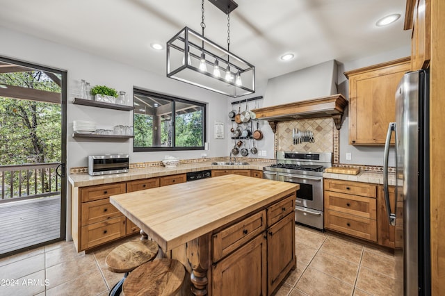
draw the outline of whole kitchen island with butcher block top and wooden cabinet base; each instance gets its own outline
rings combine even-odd
[[[194,295],[270,295],[296,268],[298,184],[229,174],[110,202],[190,273]]]

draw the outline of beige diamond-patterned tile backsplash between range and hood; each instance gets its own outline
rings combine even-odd
[[[296,131],[312,131],[315,141],[294,145],[293,129]],[[334,121],[332,117],[323,117],[278,122],[275,138],[277,139],[277,151],[334,152]]]

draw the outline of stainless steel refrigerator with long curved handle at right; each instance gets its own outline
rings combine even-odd
[[[389,124],[385,145],[385,202],[389,223],[396,227],[396,277],[401,274],[395,290],[403,295],[431,294],[428,88],[428,71],[403,76],[396,91],[396,122]],[[393,132],[396,145],[390,148]],[[396,158],[396,203],[392,208],[389,149],[395,149]]]

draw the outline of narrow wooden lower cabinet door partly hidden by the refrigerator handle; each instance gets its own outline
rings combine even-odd
[[[391,205],[391,211],[395,211],[396,205],[396,189],[394,186],[389,186],[389,204]],[[383,186],[379,186],[377,195],[377,240],[378,244],[385,247],[395,247],[396,241],[396,227],[389,225],[387,205],[385,203],[385,193],[383,192]]]

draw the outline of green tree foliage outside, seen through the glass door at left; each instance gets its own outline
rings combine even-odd
[[[41,71],[0,74],[0,83],[61,92],[60,87]],[[59,162],[61,132],[60,104],[0,97],[0,165]],[[40,174],[40,170],[25,172],[20,174],[15,172],[13,176],[9,172],[5,173],[6,180],[13,178],[13,195],[18,195],[19,179],[23,184],[28,179],[31,188],[36,188],[38,192],[55,190],[54,177],[51,176],[52,188],[49,188],[48,176],[44,177],[43,185],[40,181],[34,183],[33,174]],[[31,175],[26,176],[26,174]],[[6,188],[3,189],[6,197],[9,197],[8,183],[5,186]],[[23,192],[25,188],[23,185],[22,195],[26,195],[26,192]],[[33,192],[30,194],[32,195]]]

